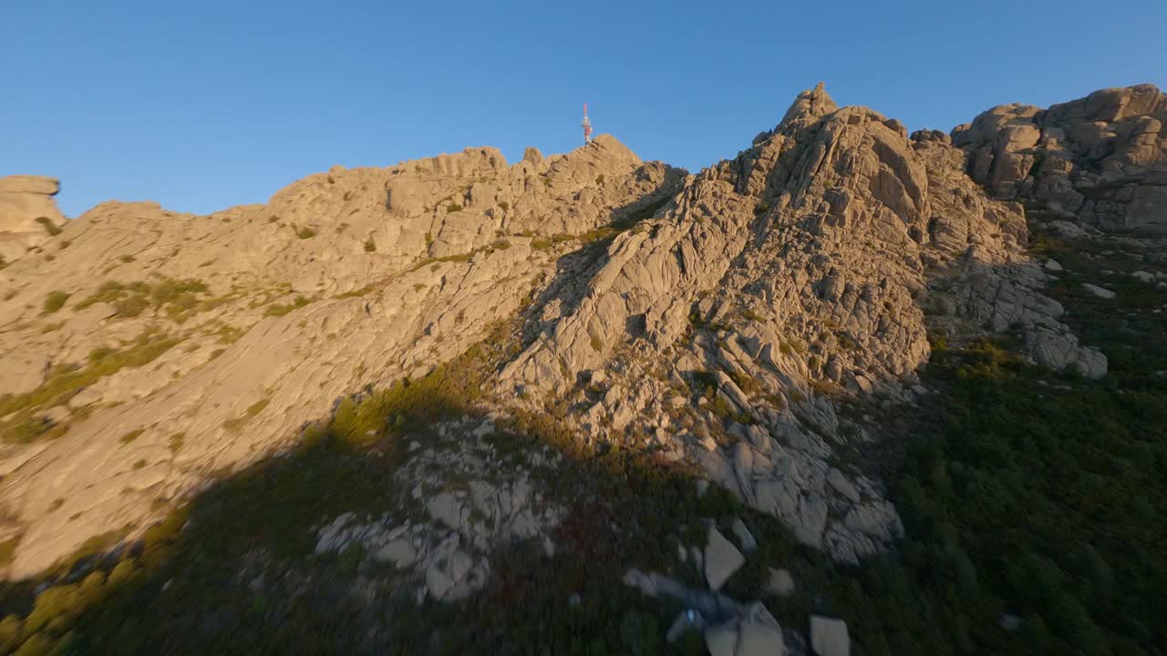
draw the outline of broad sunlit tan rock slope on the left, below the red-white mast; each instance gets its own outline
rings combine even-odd
[[[651,209],[683,174],[603,135],[513,166],[470,148],[334,167],[210,216],[110,202],[70,221],[0,271],[9,573],[141,526],[152,500],[272,453],[338,397],[463,353],[573,235]],[[60,437],[20,444],[37,435]]]

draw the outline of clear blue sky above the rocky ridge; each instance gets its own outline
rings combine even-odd
[[[1167,1],[0,0],[0,175],[209,212],[334,163],[579,145],[734,155],[818,81],[950,130],[992,105],[1167,86]]]

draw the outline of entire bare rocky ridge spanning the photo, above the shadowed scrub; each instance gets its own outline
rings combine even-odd
[[[111,202],[62,222],[55,182],[5,179],[0,208],[20,212],[2,225],[39,239],[0,271],[8,573],[140,529],[154,500],[278,452],[337,399],[418,378],[516,316],[483,389],[492,412],[567,407],[580,442],[694,463],[857,563],[903,529],[880,481],[840,462],[868,439],[840,404],[923,398],[930,332],[1015,332],[1039,364],[1105,376],[1043,294],[1020,201],[1159,229],[1165,107],[1137,86],[909,137],[819,85],[694,175],[603,135],[515,165],[470,148],[336,167],[209,216]],[[424,501],[435,517],[464,510]]]

